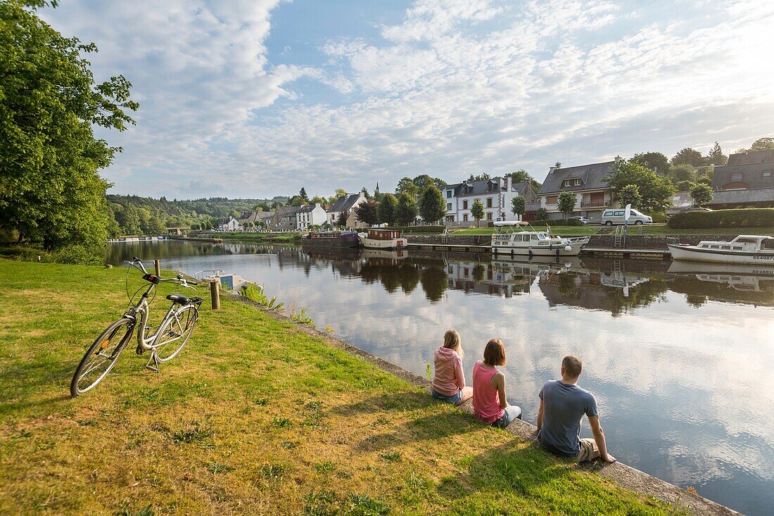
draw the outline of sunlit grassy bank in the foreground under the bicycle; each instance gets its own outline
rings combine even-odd
[[[125,305],[124,277],[0,262],[0,513],[670,510],[230,299],[205,302],[160,373],[129,348],[70,399],[85,346]]]

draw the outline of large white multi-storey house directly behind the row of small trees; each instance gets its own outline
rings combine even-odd
[[[483,181],[463,181],[447,184],[442,193],[446,201],[447,224],[474,221],[473,203],[481,201],[484,205],[485,221],[520,220],[519,215],[511,212],[511,201],[519,197],[519,188],[515,187],[511,177],[492,177]],[[527,203],[529,203],[529,199]]]

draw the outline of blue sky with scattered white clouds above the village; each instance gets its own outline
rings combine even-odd
[[[392,191],[774,136],[770,0],[61,0],[140,104],[103,177],[166,198]]]

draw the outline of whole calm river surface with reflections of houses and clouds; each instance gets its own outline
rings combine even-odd
[[[509,401],[532,423],[540,387],[563,356],[580,356],[580,385],[597,397],[614,456],[771,514],[774,269],[180,241],[115,243],[107,260],[135,255],[190,274],[238,273],[305,308],[318,329],[421,375],[446,329],[460,332],[468,382],[488,339],[502,339]]]

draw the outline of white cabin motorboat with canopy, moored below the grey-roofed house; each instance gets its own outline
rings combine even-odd
[[[529,222],[502,221],[495,222],[491,250],[495,256],[577,256],[590,238],[555,236],[550,233],[550,229],[536,231]]]

